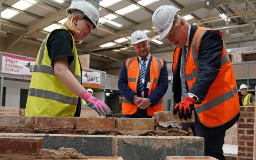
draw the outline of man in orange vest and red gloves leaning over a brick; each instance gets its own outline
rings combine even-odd
[[[173,110],[179,118],[195,123],[183,124],[204,138],[204,155],[225,160],[222,146],[225,131],[239,118],[239,98],[231,61],[222,34],[190,25],[178,15],[179,9],[163,5],[152,16],[159,39],[175,45],[173,57]]]

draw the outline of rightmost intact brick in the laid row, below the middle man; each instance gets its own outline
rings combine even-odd
[[[117,118],[117,130],[154,130],[153,118]]]

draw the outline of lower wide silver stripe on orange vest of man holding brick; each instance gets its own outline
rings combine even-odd
[[[196,113],[199,114],[201,112],[208,111],[211,108],[227,101],[228,99],[233,98],[236,93],[237,88],[235,86],[232,90],[220,95],[219,97],[216,97],[215,99],[212,99],[210,102],[203,104],[202,106],[195,107]]]

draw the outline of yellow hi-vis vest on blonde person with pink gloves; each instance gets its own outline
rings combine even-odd
[[[66,30],[64,28],[58,30]],[[78,96],[72,93],[56,77],[51,59],[46,48],[49,33],[37,54],[28,91],[25,116],[62,116],[71,117],[76,112]],[[71,33],[70,33],[71,34]],[[72,34],[71,34],[72,35]],[[75,41],[72,52],[74,60],[68,66],[71,73],[81,83],[81,66],[77,55]]]

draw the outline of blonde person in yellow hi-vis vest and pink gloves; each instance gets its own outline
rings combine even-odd
[[[25,116],[80,116],[81,100],[99,115],[109,107],[82,85],[82,69],[75,44],[97,33],[99,11],[91,3],[76,1],[66,9],[63,28],[53,30],[42,42],[29,86]]]

